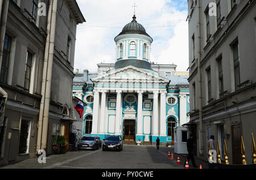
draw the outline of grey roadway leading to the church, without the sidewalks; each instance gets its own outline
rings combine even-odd
[[[123,151],[92,152],[77,160],[63,164],[52,165],[48,168],[97,168],[97,169],[170,169],[183,168],[167,157],[163,149],[155,146],[123,145]]]

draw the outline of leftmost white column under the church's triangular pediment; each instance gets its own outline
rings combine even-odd
[[[93,96],[93,122],[92,122],[92,133],[98,134],[98,105],[100,101],[100,94],[98,91],[94,91]]]

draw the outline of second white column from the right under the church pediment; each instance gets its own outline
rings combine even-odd
[[[158,136],[158,91],[154,91],[153,100],[153,134],[152,136]]]

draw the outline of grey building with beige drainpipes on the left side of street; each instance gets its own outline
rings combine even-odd
[[[77,24],[75,0],[1,1],[2,95],[0,164],[52,153],[57,135],[68,140]],[[1,112],[3,115],[3,112]]]

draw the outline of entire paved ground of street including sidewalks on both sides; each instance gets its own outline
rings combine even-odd
[[[39,164],[37,158],[30,158],[15,164],[2,166],[1,168],[26,168],[26,169],[184,169],[186,155],[179,155],[181,165],[175,160],[170,160],[168,151],[174,151],[174,147],[155,145],[123,145],[123,151],[74,151],[63,155],[51,155],[46,158],[46,164]],[[195,158],[197,166],[208,168],[208,163]],[[192,163],[189,167],[193,169]]]

